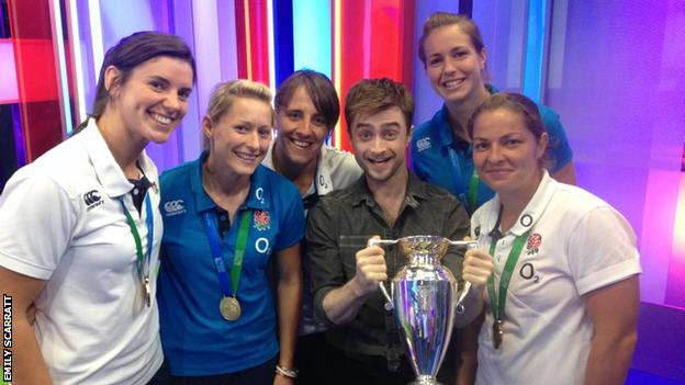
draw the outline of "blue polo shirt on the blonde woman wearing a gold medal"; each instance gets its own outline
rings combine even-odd
[[[229,273],[240,213],[252,210],[237,291],[243,314],[235,321],[222,318],[222,288],[203,224],[203,213],[216,210],[202,188],[206,156],[160,178],[165,227],[157,291],[160,333],[171,374],[180,376],[233,373],[278,353],[274,304],[265,269],[274,252],[296,245],[304,234],[304,211],[295,185],[257,167],[246,201],[231,228],[220,236]]]

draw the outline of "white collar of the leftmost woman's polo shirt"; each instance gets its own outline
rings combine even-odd
[[[82,135],[81,141],[83,143],[88,157],[96,170],[96,175],[102,184],[104,192],[113,199],[127,194],[131,189],[133,189],[133,184],[128,182],[124,170],[122,170],[116,160],[114,160],[114,156],[112,156],[110,148],[104,141],[96,124],[96,120],[92,117],[89,118],[86,128],[77,135]],[[147,157],[145,150],[138,156],[137,161],[145,177],[153,185],[153,189],[157,191],[157,168]]]

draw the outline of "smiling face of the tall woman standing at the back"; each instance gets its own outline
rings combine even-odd
[[[485,49],[478,52],[458,24],[435,29],[424,41],[426,75],[448,104],[486,95],[483,79]]]

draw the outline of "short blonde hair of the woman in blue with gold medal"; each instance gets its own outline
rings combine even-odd
[[[256,99],[271,106],[272,94],[267,86],[251,80],[239,79],[218,83],[210,97],[205,115],[212,123],[217,123],[238,98]],[[273,117],[274,112],[271,107],[271,125],[273,125]]]

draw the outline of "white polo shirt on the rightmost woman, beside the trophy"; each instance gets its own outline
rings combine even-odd
[[[481,250],[490,250],[498,211],[495,195],[471,218]],[[582,384],[594,333],[583,295],[641,272],[635,234],[606,202],[546,172],[496,245],[496,291],[514,239],[528,229],[509,282],[499,349],[493,347],[486,296],[476,384]]]

